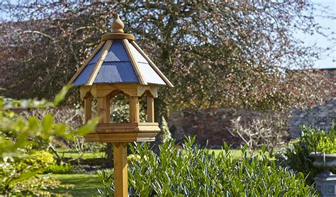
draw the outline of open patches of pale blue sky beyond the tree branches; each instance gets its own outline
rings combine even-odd
[[[15,2],[15,0],[10,0],[11,2]],[[305,1],[305,0],[303,0]],[[333,16],[336,17],[336,0],[311,0],[313,3],[320,4],[321,6],[327,7],[329,13],[332,13]],[[325,11],[315,11],[314,15],[316,16],[316,22],[320,23],[321,26],[329,28],[329,30],[325,30],[325,33],[336,33],[336,20],[332,21],[332,19],[319,17],[323,15]],[[1,18],[7,18],[6,13],[0,12]],[[316,45],[317,47],[329,47],[331,50],[329,53],[325,53],[321,60],[315,62],[315,68],[336,68],[336,44],[332,45],[330,41],[323,37],[322,35],[306,35],[304,33],[296,33],[296,38],[303,40],[304,45]],[[336,35],[332,35],[336,39]],[[334,41],[336,43],[336,41]]]

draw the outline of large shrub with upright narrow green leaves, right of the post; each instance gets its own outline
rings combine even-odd
[[[277,167],[265,156],[235,159],[228,145],[217,156],[207,148],[185,140],[179,149],[174,140],[159,145],[159,156],[147,143],[130,146],[140,160],[128,171],[130,196],[313,196],[315,190],[304,184],[303,174]],[[105,179],[102,179],[105,178]],[[113,195],[111,176],[101,176],[102,195]]]

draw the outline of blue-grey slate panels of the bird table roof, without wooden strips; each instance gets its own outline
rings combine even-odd
[[[128,43],[127,45],[131,51],[130,54],[136,62],[134,64],[138,67],[143,81],[145,81],[146,84],[166,85],[164,80],[157,74],[157,72],[155,72],[155,69],[152,68],[146,58],[142,56],[132,44]],[[101,53],[106,47],[108,47],[107,42],[101,46],[99,51],[96,52],[94,57],[92,57],[89,63],[86,64],[86,67],[84,67],[82,72],[80,72],[77,78],[74,79],[73,86],[84,86],[88,83],[97,62],[99,62],[99,59],[101,58]],[[93,84],[114,83],[139,83],[138,77],[135,74],[134,65],[130,61],[128,52],[126,52],[121,40],[113,40],[93,82]]]

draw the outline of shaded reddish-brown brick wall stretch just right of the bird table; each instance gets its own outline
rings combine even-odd
[[[233,111],[221,108],[216,111],[202,110],[196,112],[174,112],[169,116],[169,129],[172,137],[178,142],[184,140],[184,136],[196,135],[196,142],[209,147],[220,147],[223,141],[234,146],[240,145],[240,140],[230,134],[230,125],[233,118],[242,116],[242,123],[250,121],[250,118],[259,117],[257,112],[244,110]]]

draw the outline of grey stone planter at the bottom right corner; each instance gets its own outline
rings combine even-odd
[[[316,189],[322,196],[336,196],[336,175],[330,171],[331,167],[336,166],[336,153],[325,154],[321,152],[312,152],[310,157],[314,157],[314,166],[323,168],[323,172],[314,178]]]

